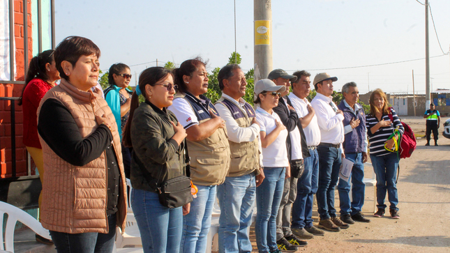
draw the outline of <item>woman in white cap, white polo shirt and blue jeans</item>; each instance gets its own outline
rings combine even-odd
[[[276,245],[276,216],[283,195],[287,159],[287,130],[280,117],[273,112],[278,105],[280,92],[285,86],[276,86],[270,79],[255,84],[256,120],[260,124],[262,167],[264,181],[256,188],[255,234],[259,252],[280,252]]]

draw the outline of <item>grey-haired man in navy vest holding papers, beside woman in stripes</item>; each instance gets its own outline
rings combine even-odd
[[[349,82],[342,88],[344,100],[340,102],[338,108],[344,113],[344,134],[343,143],[345,158],[353,162],[350,178],[352,180],[352,202],[350,203],[350,184],[339,179],[338,192],[340,199],[340,220],[347,224],[357,222],[370,222],[361,213],[364,204],[363,183],[364,162],[367,162],[367,129],[366,114],[363,107],[358,104],[359,91],[357,84]],[[349,178],[349,181],[350,181]]]

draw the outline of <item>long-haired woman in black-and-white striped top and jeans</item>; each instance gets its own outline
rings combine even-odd
[[[375,217],[382,217],[386,192],[389,197],[389,211],[393,219],[399,219],[398,193],[397,193],[397,169],[399,157],[393,151],[395,141],[403,135],[403,125],[396,112],[388,108],[386,95],[381,89],[376,89],[370,94],[370,114],[366,115],[366,128],[369,137],[370,160],[377,176],[377,212]],[[389,118],[392,115],[393,121]],[[395,131],[398,128],[398,132]],[[391,135],[394,135],[392,138]]]

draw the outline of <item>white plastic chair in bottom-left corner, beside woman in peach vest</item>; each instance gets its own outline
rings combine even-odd
[[[8,214],[8,220],[6,220],[5,245],[3,247],[3,217],[5,213]],[[0,252],[6,250],[6,252],[14,253],[14,229],[17,221],[22,222],[39,236],[49,240],[52,239],[49,231],[44,229],[42,224],[40,224],[33,216],[20,208],[0,201]]]

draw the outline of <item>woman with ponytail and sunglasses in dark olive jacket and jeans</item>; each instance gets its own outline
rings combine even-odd
[[[144,70],[133,92],[123,133],[124,146],[134,151],[130,200],[146,253],[179,252],[183,215],[190,210],[190,203],[177,208],[163,206],[158,196],[163,182],[186,174],[186,130],[166,109],[172,105],[176,88],[170,70]],[[140,105],[139,95],[145,98]]]

